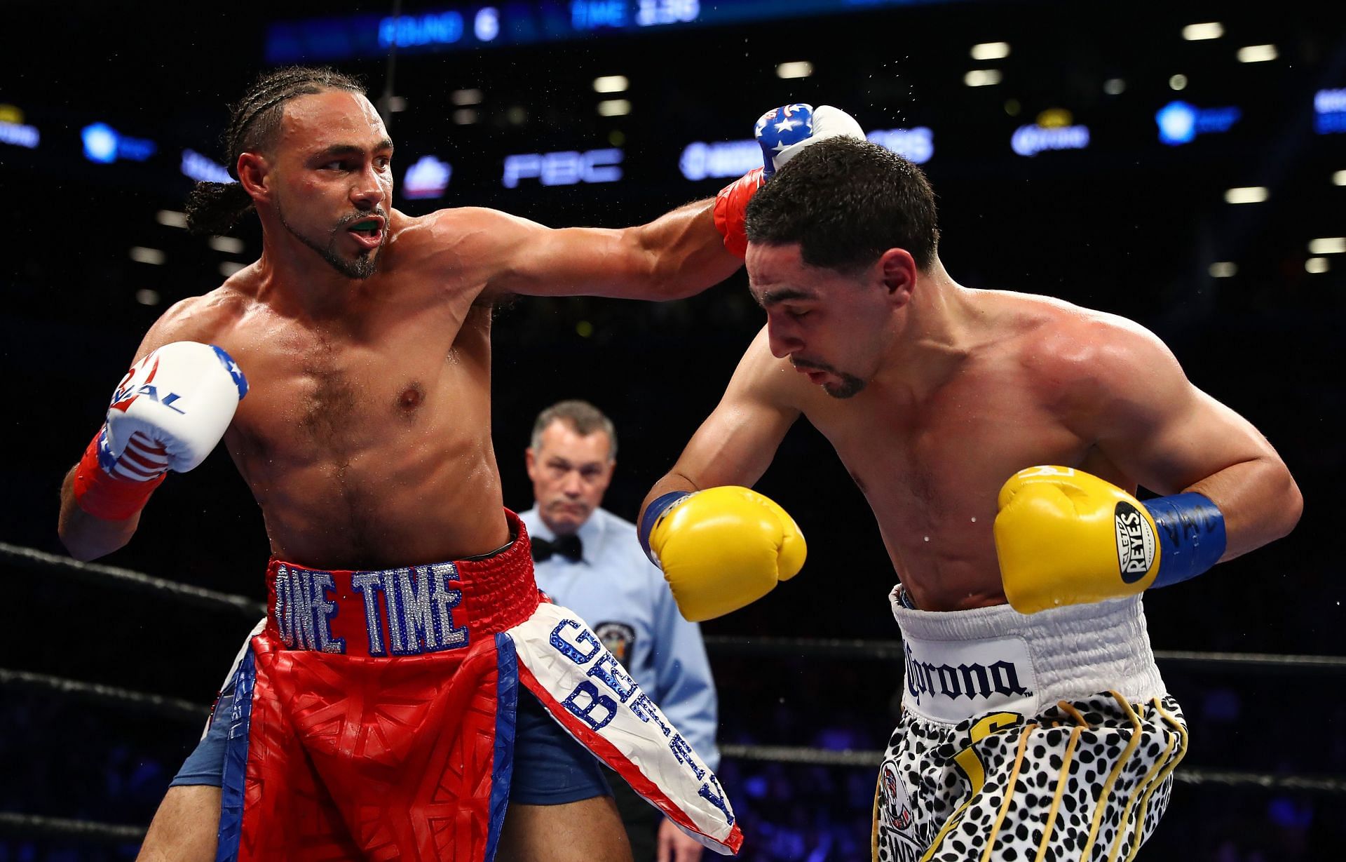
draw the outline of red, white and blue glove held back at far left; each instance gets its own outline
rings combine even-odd
[[[245,395],[238,364],[214,345],[175,341],[151,352],[117,384],[75,470],[75,502],[104,520],[131,517],[168,470],[206,459]]]

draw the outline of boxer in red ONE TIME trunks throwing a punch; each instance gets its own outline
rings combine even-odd
[[[271,540],[268,618],[141,858],[629,859],[590,750],[736,850],[715,774],[540,599],[491,449],[490,326],[516,294],[658,300],[720,281],[756,183],[622,230],[409,217],[374,106],[315,69],[260,78],[227,147],[238,182],[201,186],[191,222],[254,209],[261,257],[149,329],[62,489],[62,541],[101,556],[168,470],[223,438]],[[516,739],[516,703],[555,721]]]

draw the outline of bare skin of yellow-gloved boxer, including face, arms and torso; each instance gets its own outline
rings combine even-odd
[[[902,249],[843,276],[804,264],[798,245],[750,244],[747,267],[767,326],[646,504],[751,485],[806,416],[864,492],[922,610],[1005,601],[996,496],[1031,465],[1073,466],[1132,492],[1205,493],[1229,524],[1225,559],[1298,519],[1299,492],[1267,440],[1129,321],[964,288],[938,259],[921,271]],[[847,395],[851,378],[859,392],[829,395]]]

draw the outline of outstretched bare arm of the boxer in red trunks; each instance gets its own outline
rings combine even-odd
[[[491,213],[498,265],[486,295],[681,299],[723,281],[743,260],[724,249],[713,201],[697,201],[647,225],[545,228]]]

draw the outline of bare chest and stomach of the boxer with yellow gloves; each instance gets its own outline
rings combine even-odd
[[[809,419],[864,492],[899,576],[927,609],[1000,601],[992,524],[1015,471],[1059,463],[1116,473],[1071,431],[1053,381],[993,352],[931,391],[871,385]]]

